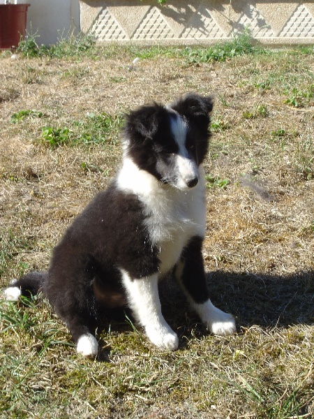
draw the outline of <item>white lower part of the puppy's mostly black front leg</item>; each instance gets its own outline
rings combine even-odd
[[[232,335],[236,331],[235,321],[231,314],[215,307],[211,300],[207,300],[202,304],[192,302],[192,306],[207,329],[214,335],[227,336]]]

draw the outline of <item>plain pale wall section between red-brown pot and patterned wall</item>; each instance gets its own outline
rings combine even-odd
[[[31,6],[27,12],[27,33],[38,37],[38,44],[51,45],[80,29],[78,0],[25,0]]]

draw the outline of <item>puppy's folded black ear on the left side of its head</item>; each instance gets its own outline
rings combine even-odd
[[[140,142],[151,140],[158,131],[160,116],[165,112],[165,108],[157,103],[144,105],[130,112],[126,117],[124,133],[128,138],[133,138]]]

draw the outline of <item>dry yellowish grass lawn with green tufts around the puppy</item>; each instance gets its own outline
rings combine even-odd
[[[236,335],[209,335],[170,278],[160,293],[178,351],[121,311],[86,360],[43,297],[1,300],[0,417],[313,418],[313,47],[27,41],[0,54],[0,75],[1,288],[47,269],[117,172],[124,112],[197,91],[215,98],[204,260],[214,304],[237,319]]]

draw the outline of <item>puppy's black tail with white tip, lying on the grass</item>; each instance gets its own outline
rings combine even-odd
[[[48,272],[29,272],[24,277],[10,283],[3,292],[5,300],[17,301],[21,295],[31,297],[36,295],[43,286]]]

